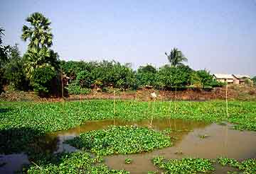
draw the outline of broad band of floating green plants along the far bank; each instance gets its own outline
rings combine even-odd
[[[144,120],[169,117],[205,122],[228,121],[236,129],[256,131],[256,103],[230,101],[229,117],[225,101],[189,102],[137,102],[117,100],[84,100],[81,102],[31,103],[0,102],[0,130],[29,127],[41,133],[76,127],[86,120],[119,118]]]

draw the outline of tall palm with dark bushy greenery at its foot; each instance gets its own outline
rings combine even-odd
[[[41,13],[32,13],[26,21],[30,26],[23,25],[21,35],[24,41],[30,41],[24,54],[26,76],[34,91],[39,95],[48,95],[52,92],[50,85],[60,86],[53,84],[53,79],[58,79],[60,62],[58,54],[49,49],[53,45],[50,21]]]

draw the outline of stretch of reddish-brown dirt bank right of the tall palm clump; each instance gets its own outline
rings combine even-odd
[[[156,100],[216,100],[225,99],[226,88],[213,88],[206,91],[198,88],[182,91],[156,91],[154,89],[141,89],[137,91],[116,91],[114,93],[99,93],[92,91],[88,95],[70,95],[68,100],[81,99],[130,99],[151,100],[151,93],[156,93]],[[230,100],[256,100],[256,88],[247,86],[229,86],[228,99]]]

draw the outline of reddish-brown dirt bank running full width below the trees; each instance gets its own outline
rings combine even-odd
[[[156,93],[156,100],[216,100],[225,99],[226,88],[213,88],[212,90],[203,90],[198,88],[188,88],[182,91],[157,91],[154,89],[140,89],[137,91],[115,91],[97,92],[87,95],[70,95],[65,100],[85,100],[85,99],[122,99],[122,100],[151,100],[151,93]],[[61,98],[39,98],[33,92],[9,92],[0,95],[1,100],[7,101],[60,101]],[[256,88],[248,86],[228,86],[229,100],[255,100]]]

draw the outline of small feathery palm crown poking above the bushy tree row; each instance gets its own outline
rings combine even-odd
[[[174,49],[171,50],[170,54],[167,54],[166,52],[165,54],[167,56],[167,59],[171,63],[171,66],[176,67],[182,65],[182,62],[188,62],[188,59],[176,47],[174,47]]]

